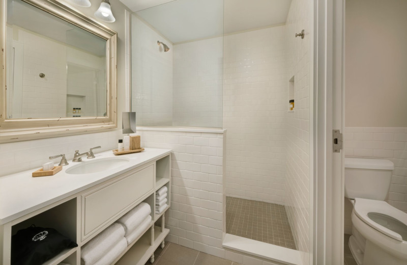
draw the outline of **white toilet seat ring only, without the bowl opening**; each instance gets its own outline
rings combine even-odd
[[[391,206],[385,201],[378,201],[378,200],[369,200],[369,199],[361,199],[355,198],[355,207],[354,207],[355,214],[366,224],[371,226],[372,228],[384,233],[387,236],[390,236],[392,239],[397,241],[403,241],[402,236],[392,231],[376,222],[368,217],[369,213],[377,213],[382,215],[387,215],[391,218],[394,218],[401,222],[402,224],[407,226],[407,214],[403,211]]]

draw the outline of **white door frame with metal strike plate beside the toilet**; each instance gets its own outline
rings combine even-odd
[[[345,0],[314,5],[313,264],[343,264],[344,149],[333,153],[332,130],[344,130]]]

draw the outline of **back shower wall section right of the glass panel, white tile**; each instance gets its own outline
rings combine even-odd
[[[284,203],[288,105],[284,29],[283,25],[225,36],[227,196]]]

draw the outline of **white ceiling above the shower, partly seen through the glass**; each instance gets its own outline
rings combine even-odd
[[[170,2],[120,1],[132,11]],[[223,12],[220,0],[176,0],[136,14],[172,43],[179,43],[285,23],[290,5],[291,0],[224,0]]]

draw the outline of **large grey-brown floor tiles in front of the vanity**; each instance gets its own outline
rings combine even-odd
[[[241,265],[173,243],[166,243],[164,249],[158,247],[154,255],[153,265]],[[147,261],[146,265],[152,264]]]

